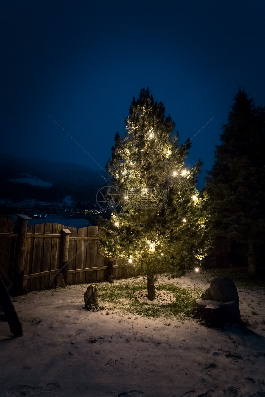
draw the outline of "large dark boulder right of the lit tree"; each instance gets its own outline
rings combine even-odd
[[[234,281],[216,277],[205,293],[196,300],[195,310],[214,326],[225,322],[240,323],[239,297]]]

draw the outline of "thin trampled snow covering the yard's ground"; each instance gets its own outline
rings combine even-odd
[[[209,281],[190,271],[161,282],[206,289]],[[24,336],[12,338],[0,321],[1,396],[265,396],[264,291],[238,290],[251,324],[244,332],[205,328],[191,318],[88,312],[86,289],[71,285],[13,299]]]

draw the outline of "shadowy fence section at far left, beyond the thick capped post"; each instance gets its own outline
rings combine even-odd
[[[17,233],[14,233],[14,219],[0,216],[0,273],[7,288],[12,285],[14,255]]]

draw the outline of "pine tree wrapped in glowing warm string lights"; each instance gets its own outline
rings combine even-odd
[[[132,263],[147,275],[147,296],[155,297],[155,274],[182,274],[191,260],[205,256],[204,197],[195,189],[201,162],[184,167],[191,144],[178,146],[178,133],[162,102],[142,89],[130,106],[126,135],[115,135],[106,166],[120,192],[120,208],[112,211],[102,236],[104,256]],[[202,251],[203,250],[203,251]]]

